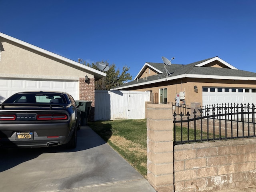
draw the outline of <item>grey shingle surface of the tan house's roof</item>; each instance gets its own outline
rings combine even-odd
[[[231,68],[217,68],[217,67],[207,67],[207,66],[196,66],[198,64],[201,64],[203,62],[206,62],[209,59],[201,60],[198,62],[190,63],[190,64],[171,64],[170,66],[166,66],[166,69],[168,72],[170,72],[171,75],[168,76],[167,80],[172,80],[175,79],[175,76],[179,75],[184,75],[184,74],[192,74],[195,76],[198,76],[200,78],[200,75],[206,75],[206,76],[216,76],[216,79],[220,79],[220,76],[232,76],[232,77],[250,77],[250,78],[256,78],[256,73],[254,72],[248,72],[248,71],[243,71],[243,70],[235,70]],[[164,70],[164,64],[163,63],[151,63],[147,62],[149,65],[148,67],[152,66],[153,68],[156,68],[158,71],[161,71],[161,74],[153,75],[153,76],[148,76],[147,78],[141,78],[141,79],[136,79],[130,82],[127,82],[126,84],[120,85],[118,87],[126,87],[126,86],[136,86],[136,84],[145,83],[145,84],[150,84],[150,83],[157,83],[157,80],[160,79],[166,79],[166,71]],[[178,77],[177,77],[178,78]],[[238,78],[239,79],[239,78]],[[115,88],[114,88],[115,89]]]

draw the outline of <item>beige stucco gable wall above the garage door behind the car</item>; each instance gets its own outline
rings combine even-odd
[[[91,72],[0,37],[0,76],[79,80]],[[2,73],[4,72],[4,74]]]

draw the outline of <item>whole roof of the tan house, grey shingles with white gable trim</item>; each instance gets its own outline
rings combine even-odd
[[[220,67],[210,67],[212,62],[218,63]],[[140,77],[146,68],[150,68],[157,72],[156,75],[148,76],[147,78]],[[171,64],[166,66],[168,72],[171,75],[167,76],[163,63],[150,63],[146,62],[142,67],[142,70],[136,76],[136,79],[123,84],[119,87],[113,88],[113,90],[119,90],[124,88],[132,88],[136,86],[142,86],[147,84],[154,84],[158,82],[164,82],[168,80],[175,80],[180,78],[210,78],[210,79],[227,79],[227,80],[256,80],[256,73],[238,70],[234,66],[228,64],[222,59],[216,57],[208,58],[198,62],[190,64]]]

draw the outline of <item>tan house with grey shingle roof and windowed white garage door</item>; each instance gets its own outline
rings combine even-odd
[[[170,75],[167,75],[168,72]],[[187,65],[146,62],[136,78],[113,90],[150,91],[153,103],[256,103],[256,73],[209,58]]]

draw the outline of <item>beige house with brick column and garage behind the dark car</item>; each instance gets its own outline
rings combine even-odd
[[[24,41],[0,33],[0,103],[26,90],[68,92],[92,101],[94,82],[106,74]],[[85,76],[89,82],[85,82]]]

